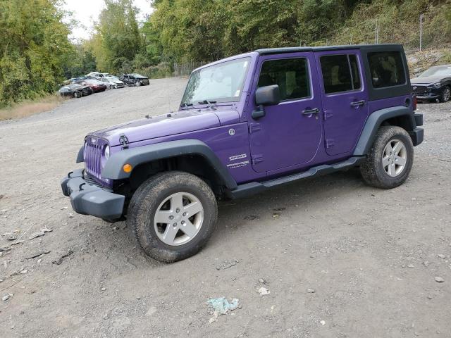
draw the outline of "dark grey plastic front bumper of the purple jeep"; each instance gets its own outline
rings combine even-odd
[[[70,172],[61,180],[63,194],[70,197],[76,213],[92,215],[105,220],[116,220],[123,215],[125,196],[99,187],[94,180],[84,177],[83,170]]]

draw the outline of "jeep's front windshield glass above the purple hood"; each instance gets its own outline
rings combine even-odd
[[[240,100],[251,58],[239,58],[194,71],[185,89],[182,105],[202,101]]]

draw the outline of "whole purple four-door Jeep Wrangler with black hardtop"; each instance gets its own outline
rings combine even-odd
[[[156,260],[197,253],[218,199],[359,166],[408,177],[423,116],[397,44],[260,49],[192,72],[176,113],[92,132],[61,182],[74,211],[127,220]]]

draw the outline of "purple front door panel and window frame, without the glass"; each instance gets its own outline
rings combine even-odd
[[[310,96],[304,99],[282,101],[276,106],[266,106],[266,115],[254,120],[251,113],[259,108],[254,104],[254,93],[264,62],[298,58],[307,59]],[[290,80],[288,77],[286,79],[286,81]],[[313,53],[261,56],[257,63],[254,83],[250,89],[247,109],[252,168],[258,173],[267,173],[292,165],[312,163],[322,139],[321,114],[305,112],[319,108],[321,108],[321,97]]]

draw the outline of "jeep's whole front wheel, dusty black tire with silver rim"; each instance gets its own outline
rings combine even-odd
[[[128,206],[127,223],[145,253],[172,263],[202,249],[217,215],[209,185],[197,176],[173,171],[141,184]]]

